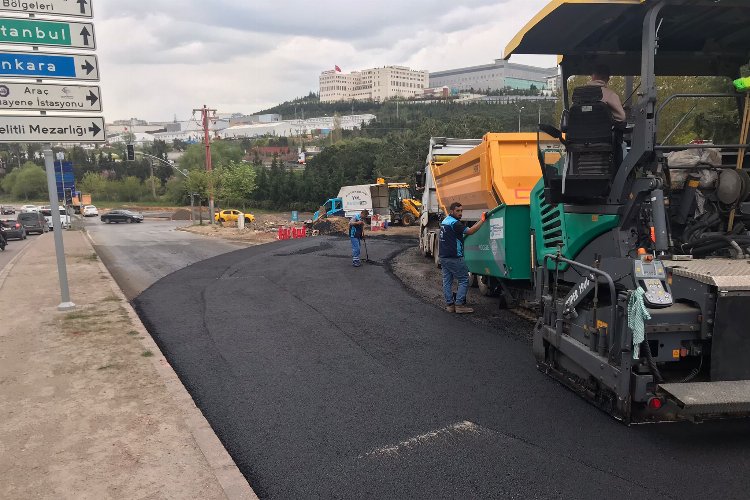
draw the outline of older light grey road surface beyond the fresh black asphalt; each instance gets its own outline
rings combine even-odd
[[[99,219],[84,219],[84,223],[96,252],[128,299],[178,269],[247,247],[176,231],[185,221],[104,224]]]

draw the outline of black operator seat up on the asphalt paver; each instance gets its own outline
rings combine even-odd
[[[600,203],[609,194],[622,163],[622,131],[594,85],[573,91],[573,104],[564,112],[567,156],[559,168],[548,169],[551,203]]]

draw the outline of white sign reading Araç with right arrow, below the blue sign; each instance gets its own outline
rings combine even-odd
[[[0,81],[0,110],[101,111],[99,87]]]

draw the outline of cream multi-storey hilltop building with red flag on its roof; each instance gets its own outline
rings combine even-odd
[[[384,66],[351,73],[336,70],[320,74],[320,102],[384,101],[421,95],[429,87],[430,73],[404,66]]]

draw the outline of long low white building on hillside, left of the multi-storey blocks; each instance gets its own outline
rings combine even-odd
[[[242,137],[299,137],[308,135],[314,130],[333,130],[338,125],[343,130],[353,130],[370,123],[375,115],[346,115],[339,117],[324,116],[307,120],[283,120],[273,123],[252,123],[235,125],[219,132],[222,139],[239,139]],[[338,122],[338,123],[337,123]]]

